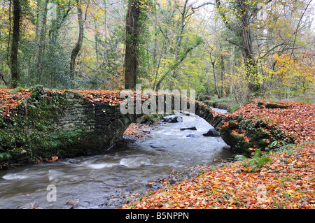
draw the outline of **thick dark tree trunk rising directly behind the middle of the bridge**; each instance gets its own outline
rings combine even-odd
[[[137,83],[139,15],[139,1],[130,0],[126,17],[125,89],[135,89]]]

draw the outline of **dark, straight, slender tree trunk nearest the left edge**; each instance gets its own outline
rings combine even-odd
[[[11,87],[16,88],[20,74],[18,71],[18,49],[20,42],[20,17],[21,17],[21,2],[20,0],[13,0],[13,33],[12,45],[10,55],[10,69],[11,69]]]

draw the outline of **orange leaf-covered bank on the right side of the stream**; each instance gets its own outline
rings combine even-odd
[[[281,145],[260,157],[199,166],[195,178],[172,185],[165,182],[162,189],[134,195],[123,208],[315,208],[314,103],[286,102],[286,109],[253,106],[257,103],[228,116],[264,117],[279,125],[287,137],[295,138],[295,143]],[[262,160],[267,161],[254,168]]]

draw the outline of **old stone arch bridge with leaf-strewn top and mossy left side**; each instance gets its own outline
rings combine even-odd
[[[9,103],[16,101],[20,101],[20,106],[10,113],[3,112],[3,106],[0,110],[2,163],[9,159],[49,158],[52,154],[59,157],[100,154],[113,147],[127,127],[144,115],[143,110],[137,113],[139,106],[149,111],[153,108],[154,103],[148,103],[148,99],[156,102],[159,109],[165,106],[167,112],[185,105],[184,108],[193,110],[216,130],[226,121],[224,115],[215,116],[213,110],[199,101],[181,100],[179,108],[176,94],[163,96],[162,100],[158,96],[141,96],[140,105],[137,94],[121,98],[118,91],[58,91],[34,87],[5,95],[3,106],[9,107]],[[127,100],[136,103],[125,103]]]

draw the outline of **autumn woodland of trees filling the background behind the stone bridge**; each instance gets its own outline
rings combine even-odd
[[[312,102],[314,46],[311,0],[0,1],[1,87]]]

